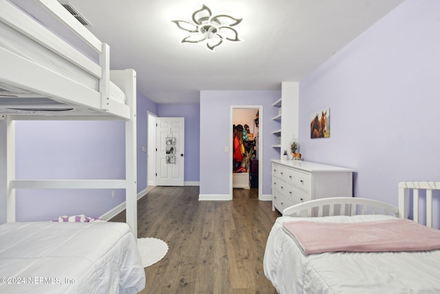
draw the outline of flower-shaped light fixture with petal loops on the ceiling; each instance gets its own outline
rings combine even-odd
[[[192,22],[173,21],[181,30],[190,35],[180,43],[201,43],[206,41],[206,47],[214,51],[214,48],[223,43],[223,40],[241,41],[238,32],[231,28],[241,23],[243,19],[236,19],[226,14],[212,16],[208,6],[203,5],[199,10],[192,13]]]

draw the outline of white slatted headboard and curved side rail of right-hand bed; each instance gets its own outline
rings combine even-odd
[[[420,207],[421,191],[426,193],[426,207]],[[399,182],[399,207],[377,200],[366,198],[333,197],[321,198],[287,207],[283,216],[322,217],[322,216],[355,216],[366,214],[384,214],[398,218],[408,218],[412,202],[412,219],[415,222],[432,227],[433,191],[440,190],[440,182]],[[412,201],[410,196],[412,195]],[[426,212],[426,218],[421,218]]]

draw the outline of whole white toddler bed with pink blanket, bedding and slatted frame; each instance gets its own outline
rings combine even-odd
[[[265,275],[278,293],[440,293],[439,190],[440,182],[400,182],[399,207],[362,198],[288,207],[267,239]]]

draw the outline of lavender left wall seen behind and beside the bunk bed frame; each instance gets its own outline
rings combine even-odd
[[[146,189],[147,110],[137,95],[137,191]],[[125,176],[122,121],[17,121],[18,179],[121,179]],[[101,216],[124,202],[124,190],[17,190],[17,220],[50,220],[84,213]]]

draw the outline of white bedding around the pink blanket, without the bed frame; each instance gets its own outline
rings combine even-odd
[[[263,267],[278,293],[440,293],[440,251],[303,255],[283,222],[365,222],[391,216],[278,218]],[[408,236],[410,238],[410,236]]]

